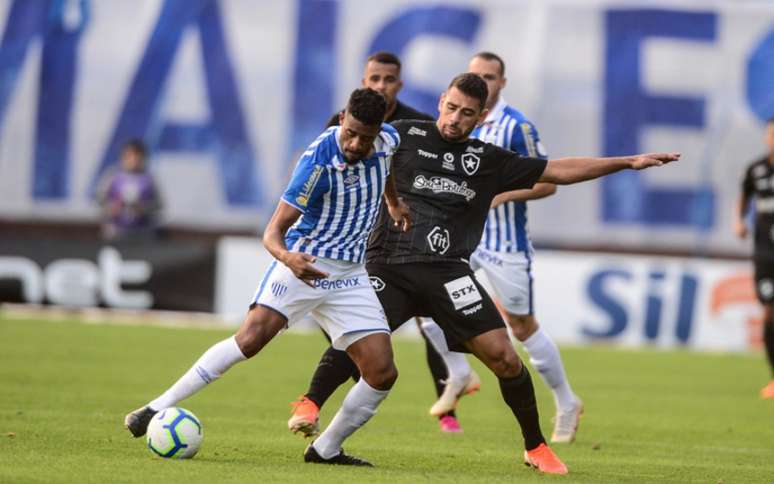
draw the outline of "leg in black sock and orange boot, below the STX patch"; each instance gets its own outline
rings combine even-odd
[[[503,400],[521,426],[525,464],[548,474],[566,474],[567,467],[546,445],[540,431],[535,388],[511,344],[508,331],[505,328],[487,331],[466,344],[499,380]]]

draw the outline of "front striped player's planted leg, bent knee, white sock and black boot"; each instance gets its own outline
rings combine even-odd
[[[376,408],[398,378],[390,336],[384,332],[369,334],[352,343],[347,348],[347,354],[360,370],[361,378],[347,393],[328,427],[307,447],[304,453],[306,462],[371,465],[345,454],[341,444],[376,413]]]

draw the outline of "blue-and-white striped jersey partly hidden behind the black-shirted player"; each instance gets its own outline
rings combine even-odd
[[[508,106],[503,98],[492,108],[486,120],[476,126],[470,137],[522,156],[548,158],[535,125],[521,112]],[[506,202],[489,210],[480,246],[500,252],[532,253],[532,242],[527,232],[526,202]]]

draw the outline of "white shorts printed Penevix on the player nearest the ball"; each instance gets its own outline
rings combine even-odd
[[[390,333],[365,265],[318,257],[314,266],[329,277],[318,279],[312,288],[285,264],[272,261],[253,302],[285,316],[288,326],[311,314],[337,350],[369,334]]]

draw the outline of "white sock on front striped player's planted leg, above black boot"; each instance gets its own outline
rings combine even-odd
[[[376,407],[387,398],[389,390],[377,390],[358,380],[350,389],[341,408],[331,420],[325,431],[314,441],[314,448],[323,459],[330,459],[341,452],[341,444],[362,427],[376,413]]]

